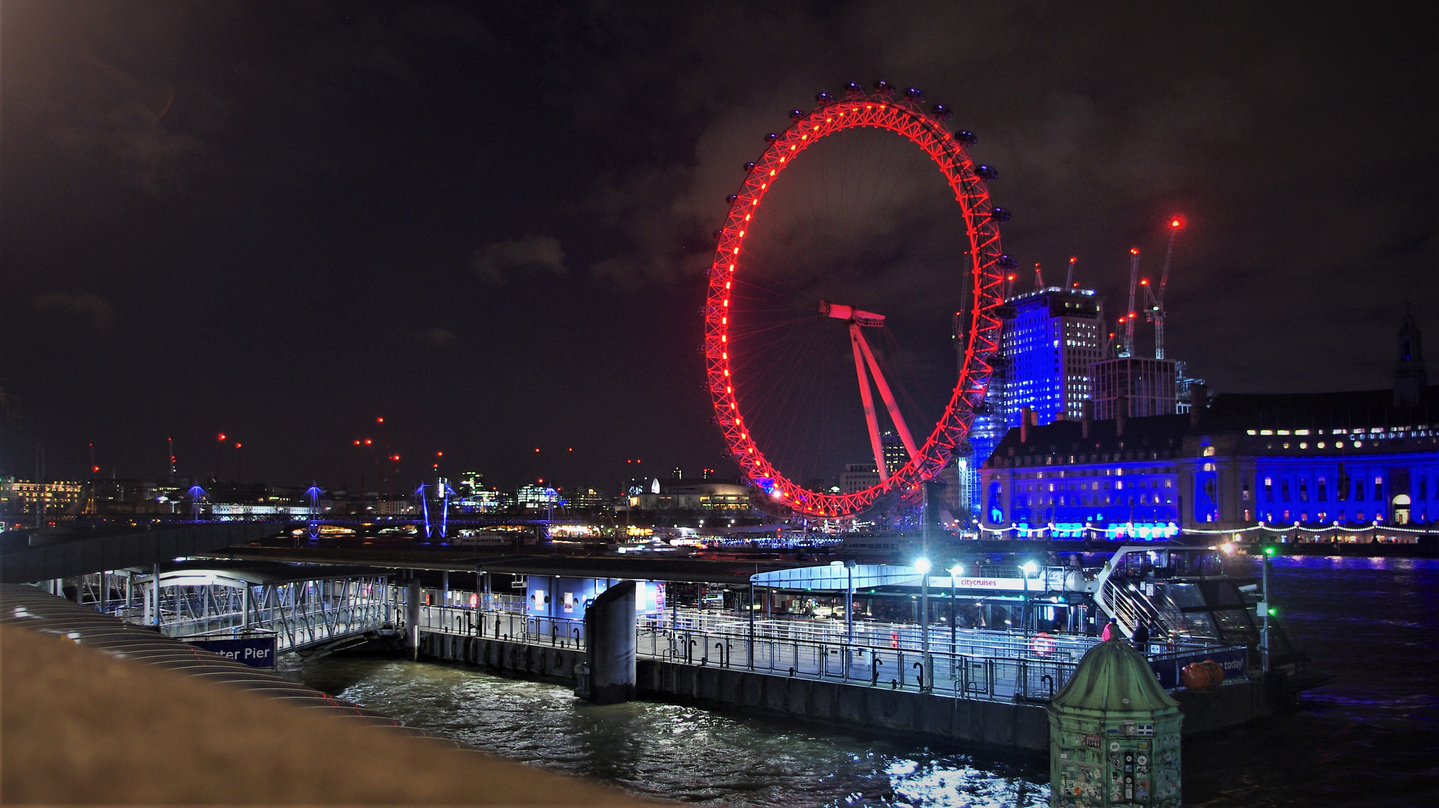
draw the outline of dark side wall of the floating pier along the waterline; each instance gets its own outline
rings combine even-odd
[[[486,637],[420,633],[420,657],[484,666],[499,673],[576,684],[574,669],[589,661],[580,648],[530,646]],[[747,670],[637,660],[635,689],[656,700],[741,707],[771,716],[905,738],[990,746],[1029,755],[1049,753],[1049,720],[1042,704],[1014,704],[931,696],[912,690],[787,679]],[[1259,683],[1207,692],[1173,693],[1184,713],[1184,736],[1215,732],[1269,715]]]

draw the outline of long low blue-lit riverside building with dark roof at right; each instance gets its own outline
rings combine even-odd
[[[980,470],[981,526],[1012,536],[1439,522],[1439,387],[1219,395],[1204,411],[1016,427]],[[1325,424],[1322,427],[1314,424]]]

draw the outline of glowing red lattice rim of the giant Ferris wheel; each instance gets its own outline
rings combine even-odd
[[[950,462],[955,446],[968,434],[976,407],[983,400],[991,375],[990,358],[999,351],[1000,289],[1007,257],[1000,250],[999,226],[986,181],[940,116],[927,112],[911,98],[888,93],[856,95],[843,101],[825,101],[770,142],[748,171],[743,187],[730,204],[730,214],[718,234],[715,259],[709,269],[705,302],[704,354],[707,380],[717,423],[727,447],[744,474],[758,485],[774,505],[810,516],[852,516],[876,505],[891,493],[914,490],[934,477]],[[734,283],[745,272],[744,240],[751,217],[760,208],[776,180],[809,147],[846,129],[886,129],[917,145],[928,155],[953,190],[967,236],[963,270],[970,275],[971,298],[958,380],[948,395],[943,416],[928,431],[909,462],[879,485],[853,493],[810,490],[796,483],[761,451],[745,424],[745,411],[735,394],[735,375],[744,364],[731,352]],[[856,359],[858,361],[858,359]],[[925,421],[928,423],[928,421]],[[918,428],[918,424],[917,424]]]

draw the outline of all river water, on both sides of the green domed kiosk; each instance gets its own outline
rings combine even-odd
[[[1236,559],[1235,564],[1258,564]],[[1255,568],[1258,569],[1258,568]],[[1439,805],[1439,561],[1278,558],[1272,598],[1338,681],[1184,743],[1184,804]],[[593,706],[465,666],[321,658],[302,680],[498,755],[712,805],[1048,805],[1043,761],[656,702]]]

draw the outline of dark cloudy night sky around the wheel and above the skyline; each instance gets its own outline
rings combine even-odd
[[[43,444],[83,479],[94,443],[101,476],[163,477],[173,437],[233,477],[223,431],[248,480],[354,486],[381,416],[414,483],[436,451],[501,487],[734,473],[711,231],[791,108],[879,78],[979,134],[1022,270],[1078,256],[1111,313],[1128,247],[1157,275],[1187,214],[1168,348],[1217,391],[1384,387],[1406,303],[1439,358],[1427,3],[0,14],[0,473]]]

